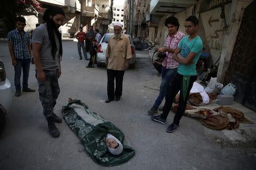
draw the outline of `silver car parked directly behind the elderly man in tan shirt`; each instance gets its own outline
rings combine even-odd
[[[114,33],[106,33],[100,43],[98,44],[98,51],[97,51],[97,66],[100,67],[102,65],[105,65],[106,63],[106,48],[108,46],[108,41],[109,41],[109,37],[113,36]],[[135,53],[135,46],[133,43],[133,40],[131,39],[130,35],[127,35],[129,37],[130,40],[130,44],[131,44],[131,54],[133,55],[133,57],[130,60],[130,67],[134,68],[135,67],[135,62],[136,62],[136,53]]]

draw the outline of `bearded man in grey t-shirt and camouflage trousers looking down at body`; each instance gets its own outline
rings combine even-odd
[[[62,119],[53,113],[53,108],[60,94],[58,78],[61,75],[62,43],[58,28],[64,18],[64,11],[60,7],[48,8],[43,15],[44,23],[35,29],[32,37],[39,98],[52,137],[60,135],[55,122],[62,122]]]

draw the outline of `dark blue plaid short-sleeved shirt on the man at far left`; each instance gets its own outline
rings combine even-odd
[[[8,33],[7,39],[13,44],[15,58],[27,59],[31,57],[28,50],[30,36],[27,32],[19,33],[18,29],[14,29]]]

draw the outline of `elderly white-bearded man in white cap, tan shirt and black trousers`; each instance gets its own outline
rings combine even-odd
[[[114,35],[109,38],[106,49],[106,67],[108,73],[108,99],[118,101],[122,96],[123,75],[129,67],[131,59],[131,45],[129,37],[122,32],[122,24],[114,24]],[[114,90],[115,80],[115,90]]]

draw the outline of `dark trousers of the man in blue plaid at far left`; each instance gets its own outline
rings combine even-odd
[[[16,90],[21,90],[20,86],[20,76],[23,72],[23,81],[22,81],[22,88],[28,87],[28,75],[30,73],[30,59],[18,59],[15,58],[17,61],[17,65],[14,66],[14,84]]]

